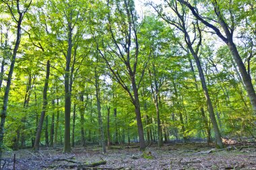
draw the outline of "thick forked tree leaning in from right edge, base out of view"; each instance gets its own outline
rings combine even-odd
[[[228,48],[230,52],[232,53],[232,56],[236,62],[236,65],[238,66],[238,69],[241,73],[243,83],[245,83],[245,89],[247,91],[247,94],[249,96],[249,99],[251,101],[251,105],[253,107],[253,112],[256,114],[256,93],[255,89],[253,88],[253,83],[251,82],[251,76],[249,73],[249,70],[247,72],[247,69],[243,63],[243,60],[241,58],[241,55],[238,52],[238,49],[236,48],[236,44],[234,44],[234,31],[236,26],[236,23],[241,22],[242,19],[239,19],[239,17],[243,18],[243,15],[239,16],[237,13],[240,11],[239,8],[236,9],[236,7],[233,7],[232,1],[224,1],[224,3],[220,4],[218,1],[214,0],[212,1],[213,6],[213,13],[216,17],[214,20],[213,18],[209,17],[203,17],[201,14],[199,14],[199,10],[197,7],[193,7],[191,3],[184,0],[178,0],[179,2],[183,3],[193,13],[193,15],[196,17],[197,20],[202,22],[205,26],[208,28],[214,30],[214,33],[228,45]],[[228,20],[226,17],[230,17]],[[235,20],[237,19],[237,20]],[[208,21],[209,20],[209,21]],[[218,24],[220,24],[220,27],[224,31],[224,34],[220,31],[218,26],[214,26],[211,24],[211,21],[218,21]]]

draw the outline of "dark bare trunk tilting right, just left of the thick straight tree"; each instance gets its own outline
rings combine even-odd
[[[39,149],[39,142],[40,142],[40,136],[42,132],[42,124],[44,123],[44,116],[46,113],[46,107],[47,107],[47,89],[48,89],[48,83],[49,83],[49,75],[50,75],[50,60],[47,61],[47,67],[46,67],[46,77],[44,81],[44,91],[42,93],[42,112],[40,116],[40,120],[38,122],[38,127],[36,130],[36,138],[34,140],[34,149]]]

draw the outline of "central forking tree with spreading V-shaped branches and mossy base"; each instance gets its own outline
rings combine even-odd
[[[108,1],[107,5],[109,10],[115,9],[115,11],[109,11],[107,14],[107,31],[110,36],[108,37],[108,40],[113,44],[110,45],[108,42],[100,41],[98,42],[98,50],[102,58],[105,60],[113,79],[115,79],[115,81],[117,81],[119,85],[127,91],[131,98],[131,102],[135,107],[139,146],[141,150],[144,150],[146,148],[146,144],[143,134],[143,124],[141,121],[138,90],[148,64],[148,59],[143,62],[143,59],[138,57],[138,25],[134,1]],[[113,17],[114,12],[119,15],[117,15],[117,17]],[[116,28],[116,24],[121,27]],[[117,34],[117,32],[119,34]],[[119,67],[119,65],[125,68],[125,70]],[[140,75],[137,73],[138,65],[143,65]],[[125,81],[127,80],[128,82],[126,83]]]

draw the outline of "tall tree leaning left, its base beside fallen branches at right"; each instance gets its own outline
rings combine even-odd
[[[189,48],[189,51],[191,52],[193,58],[195,59],[197,69],[199,71],[199,77],[201,79],[201,87],[203,88],[207,107],[208,107],[208,110],[210,113],[210,118],[212,120],[212,124],[214,127],[214,132],[215,132],[215,136],[216,136],[216,144],[220,148],[223,148],[224,145],[222,144],[220,130],[218,128],[218,124],[217,124],[217,121],[215,118],[214,108],[212,106],[212,100],[210,98],[210,94],[207,89],[207,84],[205,82],[205,76],[204,76],[203,69],[201,67],[201,62],[200,62],[200,59],[198,56],[199,48],[200,48],[201,42],[202,42],[201,30],[199,28],[199,24],[198,24],[198,22],[195,24],[189,24],[189,25],[187,24],[188,16],[186,13],[186,9],[183,5],[178,6],[177,1],[172,1],[170,3],[168,1],[165,1],[165,2],[167,3],[168,7],[170,7],[170,9],[172,9],[172,11],[175,13],[175,15],[177,16],[176,18],[171,19],[170,17],[167,17],[165,13],[162,13],[162,10],[158,9],[157,7],[154,7],[153,5],[152,6],[158,12],[158,15],[160,15],[160,17],[162,17],[162,19],[164,19],[168,24],[174,26],[175,28],[177,28],[177,30],[179,30],[183,33],[185,43],[187,44],[187,48]],[[192,27],[193,34],[195,34],[193,39],[191,39],[191,36],[189,35],[189,31],[188,31],[189,26]],[[193,46],[195,44],[196,40],[197,40],[197,44],[195,46]]]

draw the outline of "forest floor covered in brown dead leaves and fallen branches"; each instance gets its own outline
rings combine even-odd
[[[133,144],[115,145],[102,154],[98,146],[72,148],[41,148],[6,152],[4,169],[256,169],[256,145],[236,144],[218,149],[205,143],[152,144],[141,152]],[[99,163],[104,165],[93,165]],[[94,167],[93,167],[94,166]]]

